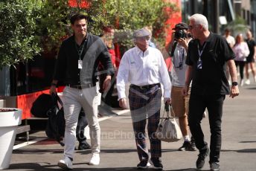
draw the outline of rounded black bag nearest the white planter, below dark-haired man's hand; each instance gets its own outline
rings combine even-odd
[[[31,114],[35,117],[48,117],[47,112],[54,106],[54,101],[50,94],[41,94],[33,102]]]

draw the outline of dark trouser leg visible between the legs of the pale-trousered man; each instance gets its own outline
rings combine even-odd
[[[77,129],[76,129],[76,136],[77,136],[77,141],[79,143],[85,143],[86,142],[86,136],[84,135],[84,129],[88,126],[87,120],[86,120],[86,114],[81,109],[81,112],[78,117],[78,122],[77,122]]]

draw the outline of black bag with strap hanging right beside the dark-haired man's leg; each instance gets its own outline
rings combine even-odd
[[[51,94],[54,106],[48,110],[48,121],[45,133],[48,138],[54,138],[61,146],[64,146],[63,138],[65,134],[65,117],[63,111],[63,102],[57,94]],[[58,102],[61,108],[58,106]]]

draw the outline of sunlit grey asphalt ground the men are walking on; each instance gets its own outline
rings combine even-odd
[[[226,97],[223,109],[223,143],[220,153],[220,168],[225,171],[256,170],[256,84],[240,88],[234,99]],[[115,114],[116,113],[116,114]],[[119,115],[118,115],[119,113]],[[121,114],[122,113],[122,114]],[[110,115],[109,115],[110,114]],[[100,121],[100,165],[90,166],[90,150],[75,151],[73,170],[136,170],[138,155],[132,132],[129,111],[107,110],[106,120]],[[106,117],[108,116],[108,117]],[[210,140],[208,117],[202,120],[205,141]],[[44,131],[31,133],[31,140],[46,138]],[[17,141],[21,141],[20,139]],[[196,152],[179,152],[182,141],[162,142],[164,170],[196,170]],[[147,140],[149,145],[149,141]],[[150,146],[148,146],[150,149]],[[60,170],[57,162],[63,158],[63,147],[54,140],[31,143],[13,150],[8,170]],[[208,158],[202,170],[210,170]]]

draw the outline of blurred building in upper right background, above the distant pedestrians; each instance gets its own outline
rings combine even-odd
[[[206,16],[214,33],[223,34],[225,28],[233,29],[234,34],[248,28],[256,32],[256,0],[182,0],[182,20],[188,22],[193,13]]]

